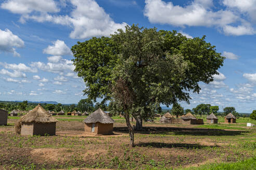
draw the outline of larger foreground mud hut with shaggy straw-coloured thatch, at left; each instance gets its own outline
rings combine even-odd
[[[39,104],[28,114],[22,116],[15,126],[17,134],[55,135],[57,120]]]

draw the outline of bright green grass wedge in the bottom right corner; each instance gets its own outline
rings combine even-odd
[[[212,163],[206,164],[199,167],[181,168],[185,170],[253,170],[256,169],[256,157],[235,162],[235,163]]]

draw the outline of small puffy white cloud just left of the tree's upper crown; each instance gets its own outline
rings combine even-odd
[[[59,39],[53,42],[53,46],[48,46],[47,48],[45,48],[43,52],[51,55],[71,55],[72,54],[70,48],[64,43],[64,41],[61,41]],[[56,61],[57,58],[53,56],[52,58],[48,58],[48,60],[49,59]],[[59,60],[60,59],[61,58],[59,58]]]

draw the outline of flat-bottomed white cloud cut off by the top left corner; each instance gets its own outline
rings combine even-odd
[[[58,12],[57,4],[53,0],[8,0],[1,4],[1,8],[12,13],[26,14],[33,11]]]

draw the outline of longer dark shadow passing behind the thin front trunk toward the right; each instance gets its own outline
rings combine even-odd
[[[127,127],[114,127],[115,132],[128,133]],[[232,131],[222,129],[199,129],[183,127],[143,127],[141,131],[135,131],[139,134],[169,134],[174,135],[196,135],[196,136],[235,136],[249,131]]]

